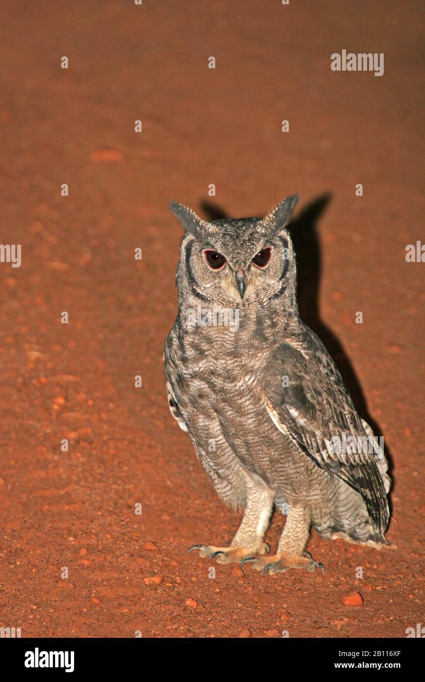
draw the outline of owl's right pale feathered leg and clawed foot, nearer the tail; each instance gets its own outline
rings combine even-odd
[[[261,571],[263,576],[267,571],[271,574],[287,571],[289,568],[304,568],[313,572],[318,566],[323,570],[323,564],[314,561],[311,554],[304,550],[310,532],[310,512],[301,505],[291,505],[282,535],[278,544],[278,552],[267,559],[246,559],[252,561],[252,567]],[[245,563],[245,562],[244,562]]]

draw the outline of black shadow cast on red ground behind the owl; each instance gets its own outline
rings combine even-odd
[[[299,316],[310,329],[317,333],[317,336],[325,344],[327,351],[334,359],[340,371],[345,385],[349,389],[360,417],[366,419],[375,434],[381,434],[379,425],[368,413],[364,392],[347,353],[345,353],[342,344],[334,332],[323,323],[319,314],[321,248],[317,222],[329,204],[330,199],[330,194],[322,194],[317,197],[288,226],[297,256]],[[209,220],[220,220],[230,217],[220,207],[213,205],[209,201],[204,201],[201,204],[201,208],[205,211]],[[258,217],[262,218],[263,216]],[[385,454],[391,470],[392,457],[386,445]]]

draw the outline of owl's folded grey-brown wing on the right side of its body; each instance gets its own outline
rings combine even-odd
[[[389,520],[385,474],[381,476],[374,452],[369,448],[364,452],[363,443],[370,441],[358,440],[368,439],[372,432],[357,415],[321,340],[308,327],[299,337],[286,340],[272,355],[261,384],[275,426],[314,464],[360,492],[377,539],[385,542]],[[383,457],[383,451],[377,456]],[[386,469],[386,462],[382,466]]]

